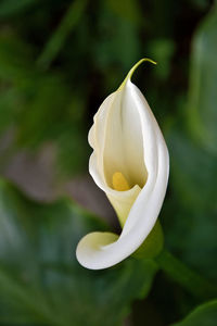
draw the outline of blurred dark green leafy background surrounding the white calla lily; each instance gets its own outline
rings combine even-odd
[[[87,135],[129,68],[157,61],[133,82],[170,154],[165,247],[216,284],[216,2],[1,0],[0,26],[0,325],[178,323],[213,298],[192,296],[154,261],[94,272],[75,259],[86,233],[119,230],[88,176]],[[216,321],[213,301],[176,325]]]

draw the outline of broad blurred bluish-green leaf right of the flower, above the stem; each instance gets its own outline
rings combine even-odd
[[[195,271],[216,279],[216,156],[178,127],[170,133],[168,147],[173,198],[165,202],[166,243]]]

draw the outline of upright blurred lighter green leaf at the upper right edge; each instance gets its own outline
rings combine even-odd
[[[189,129],[217,154],[217,5],[201,24],[193,40],[188,103]]]

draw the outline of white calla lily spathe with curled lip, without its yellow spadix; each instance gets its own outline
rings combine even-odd
[[[167,147],[146,100],[130,82],[143,61],[105,99],[89,133],[93,148],[90,174],[106,193],[123,226],[120,236],[95,231],[79,241],[77,260],[90,269],[113,266],[133,253],[154,227],[164,201],[169,173]],[[125,176],[129,190],[113,189],[116,172]]]

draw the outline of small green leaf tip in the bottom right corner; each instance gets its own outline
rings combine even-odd
[[[216,326],[217,300],[201,304],[191,312],[182,322],[173,326]]]

